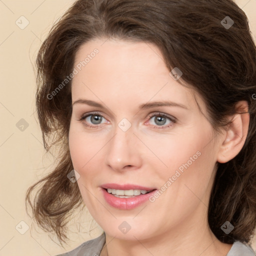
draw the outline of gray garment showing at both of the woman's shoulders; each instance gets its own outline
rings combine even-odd
[[[105,243],[105,233],[103,232],[100,236],[88,240],[75,249],[59,254],[56,256],[99,256],[103,245]],[[246,246],[245,244],[235,241],[226,254],[226,256],[255,256],[255,252],[253,252],[250,246]]]

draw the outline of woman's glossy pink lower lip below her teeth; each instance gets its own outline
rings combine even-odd
[[[154,194],[156,189],[153,191],[146,193],[146,194],[140,194],[136,195],[134,197],[129,197],[129,198],[119,198],[114,196],[113,194],[108,193],[104,188],[102,188],[103,191],[103,196],[105,200],[113,207],[118,208],[118,209],[123,209],[123,210],[129,210],[133,209],[142,203],[146,202],[149,200],[149,197]]]

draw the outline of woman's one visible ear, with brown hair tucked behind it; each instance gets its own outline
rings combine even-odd
[[[217,161],[220,163],[231,160],[240,152],[248,134],[250,117],[247,101],[238,101],[235,108],[240,113],[231,116],[231,123],[227,125],[224,131],[224,138],[217,154]]]

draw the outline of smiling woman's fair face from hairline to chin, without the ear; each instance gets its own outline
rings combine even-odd
[[[74,68],[69,147],[96,222],[132,240],[205,226],[220,140],[198,108],[196,101],[206,113],[199,95],[195,101],[145,42],[89,41]],[[107,183],[130,184],[116,186],[118,193],[140,195],[118,198],[102,188],[115,187]],[[132,188],[157,190],[126,191]]]

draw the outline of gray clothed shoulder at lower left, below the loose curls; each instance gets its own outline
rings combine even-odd
[[[82,243],[75,249],[56,256],[99,256],[104,243],[105,233],[103,232],[100,236]]]

